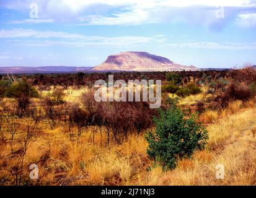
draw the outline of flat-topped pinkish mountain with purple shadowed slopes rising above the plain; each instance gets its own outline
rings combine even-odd
[[[197,70],[194,66],[182,66],[162,56],[146,52],[128,51],[108,56],[93,71],[177,71]]]

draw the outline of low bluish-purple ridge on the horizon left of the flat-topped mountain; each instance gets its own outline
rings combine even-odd
[[[0,74],[48,74],[48,73],[73,73],[89,71],[93,67],[67,67],[67,66],[45,66],[45,67],[0,67]]]

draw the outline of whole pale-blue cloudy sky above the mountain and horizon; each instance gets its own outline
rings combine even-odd
[[[0,66],[96,66],[121,51],[256,64],[256,0],[0,0]]]

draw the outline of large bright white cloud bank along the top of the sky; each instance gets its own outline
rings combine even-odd
[[[29,11],[30,2],[30,0],[2,0],[0,6]],[[185,18],[188,22],[197,20],[197,22],[213,23],[218,21],[214,17],[216,7],[244,10],[256,7],[255,0],[33,0],[33,2],[39,6],[41,20],[45,22],[48,19],[53,19],[55,22],[79,20],[79,25],[139,25],[172,20],[174,17],[179,20]],[[207,11],[210,16],[206,17],[205,12],[201,12],[200,9]],[[189,13],[195,10],[199,12],[193,17]],[[173,11],[175,15],[170,13]],[[241,13],[237,12],[235,18],[238,14]],[[81,15],[84,17],[79,17]]]

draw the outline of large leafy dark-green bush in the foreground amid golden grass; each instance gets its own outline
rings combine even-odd
[[[158,160],[164,168],[173,169],[178,158],[189,158],[197,149],[203,149],[208,132],[198,122],[196,116],[184,119],[184,114],[176,106],[159,111],[154,118],[156,131],[149,132],[149,157]]]

